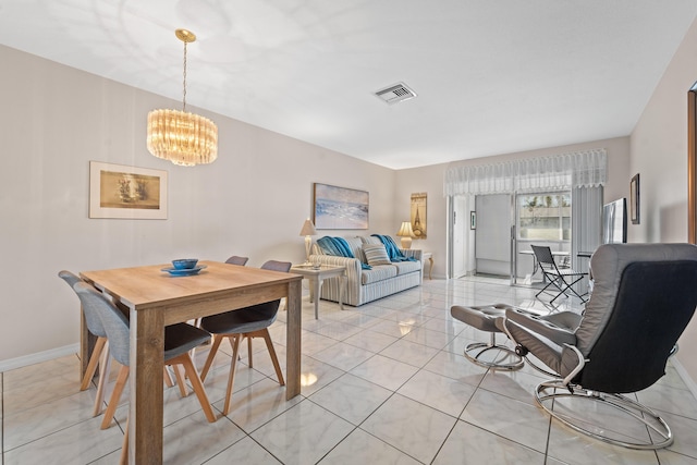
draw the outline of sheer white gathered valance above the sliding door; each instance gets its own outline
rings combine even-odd
[[[606,184],[604,149],[445,170],[444,195],[505,194],[598,187]]]

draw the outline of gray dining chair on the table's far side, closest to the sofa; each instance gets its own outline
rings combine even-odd
[[[290,261],[269,260],[261,266],[261,269],[288,272],[291,269],[291,265],[292,264]],[[271,336],[268,330],[273,321],[276,321],[280,303],[280,299],[267,302],[265,304],[253,305],[250,307],[227,311],[224,314],[211,315],[201,319],[200,327],[213,335],[213,342],[210,347],[210,352],[208,353],[208,358],[206,358],[206,364],[200,372],[200,378],[203,380],[205,380],[208,375],[208,370],[212,365],[213,358],[216,357],[216,353],[218,352],[222,340],[228,339],[232,346],[232,360],[228,378],[228,392],[225,393],[225,403],[222,411],[223,415],[228,415],[230,413],[235,369],[240,353],[240,343],[245,338],[247,338],[249,344],[249,367],[253,366],[252,339],[262,338],[266,341],[266,346],[269,351],[269,355],[271,356],[271,362],[273,363],[273,368],[276,369],[279,383],[281,386],[285,386],[283,372],[281,371],[281,366],[279,365],[279,359],[276,355],[276,351],[273,350],[273,343],[271,342]]]

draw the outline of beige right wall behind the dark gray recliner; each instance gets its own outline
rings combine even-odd
[[[632,133],[631,175],[640,178],[640,223],[631,242],[687,241],[687,90],[697,81],[697,22],[675,52]],[[627,180],[628,183],[628,180]],[[697,381],[697,319],[677,359]]]

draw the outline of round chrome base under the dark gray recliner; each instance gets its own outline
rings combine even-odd
[[[608,394],[598,391],[590,391],[575,386],[572,386],[571,388],[573,389],[573,391],[564,386],[561,379],[541,382],[535,390],[535,401],[551,417],[558,419],[573,430],[598,439],[600,441],[608,442],[610,444],[621,445],[627,449],[657,450],[668,448],[673,443],[673,433],[670,427],[663,420],[663,418],[658,416],[649,407],[622,394]],[[623,436],[624,438],[626,438],[626,441],[612,438],[607,435],[608,430],[600,426],[598,427],[598,431],[592,431],[588,428],[587,425],[584,425],[584,421],[582,419],[575,418],[568,413],[564,413],[562,411],[562,408],[564,407],[561,406],[559,400],[563,397],[573,397],[580,401],[597,402],[602,405],[612,407],[623,414],[624,417],[644,425],[646,429],[648,429],[648,431],[652,433],[653,440],[657,442],[652,442],[651,439],[648,439],[646,441],[636,439],[636,441],[633,441],[635,438],[629,438],[628,436],[621,433],[617,433],[617,436]],[[554,411],[554,408],[557,408],[557,411]],[[586,411],[591,412],[592,409],[590,406],[588,406]],[[585,424],[588,424],[588,421],[585,421]],[[601,433],[600,431],[602,431],[603,433]]]

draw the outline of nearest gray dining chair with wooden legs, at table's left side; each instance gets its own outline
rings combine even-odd
[[[109,405],[105,412],[105,418],[101,423],[101,428],[106,429],[111,424],[113,414],[119,405],[121,393],[123,392],[123,388],[129,379],[129,365],[131,362],[129,320],[109,298],[89,284],[78,282],[73,286],[73,289],[77,293],[85,311],[98,315],[109,338],[111,355],[122,365],[111,399],[109,400]],[[204,386],[188,354],[188,351],[208,342],[209,340],[209,333],[191,325],[176,323],[168,326],[164,328],[164,358],[162,362],[166,365],[180,364],[184,366],[186,376],[194,388],[194,392],[200,402],[206,418],[208,421],[213,423],[216,421],[216,415],[210,406],[210,402],[208,402],[208,396],[206,395]],[[183,395],[186,395],[184,380],[179,376],[179,370],[174,371],[178,374],[180,390]]]

